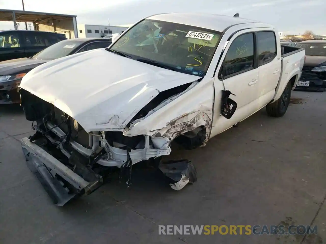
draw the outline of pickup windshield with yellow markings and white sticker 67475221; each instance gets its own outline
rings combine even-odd
[[[221,32],[213,30],[146,19],[123,34],[110,50],[138,61],[203,76],[220,36]]]

